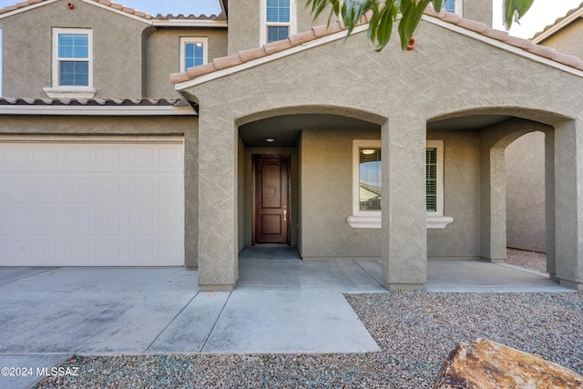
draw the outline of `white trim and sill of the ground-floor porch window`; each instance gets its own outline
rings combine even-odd
[[[346,221],[354,229],[380,229],[382,227],[382,210],[360,210],[360,149],[381,148],[380,139],[353,139],[353,214]],[[444,141],[427,140],[426,148],[436,148],[437,151],[437,210],[428,212],[425,210],[427,229],[445,229],[454,221],[454,218],[445,216],[445,180],[444,180]],[[425,163],[425,167],[426,167]],[[426,169],[426,168],[425,168]]]

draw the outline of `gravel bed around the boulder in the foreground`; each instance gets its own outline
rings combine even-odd
[[[36,388],[428,388],[456,343],[484,337],[583,374],[583,293],[346,296],[381,353],[77,357]]]

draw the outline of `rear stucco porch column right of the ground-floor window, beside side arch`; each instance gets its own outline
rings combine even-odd
[[[480,256],[506,260],[505,148],[483,142],[480,157]]]

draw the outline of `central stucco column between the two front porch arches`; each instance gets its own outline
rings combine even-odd
[[[383,283],[390,291],[427,282],[425,128],[413,117],[382,127]]]

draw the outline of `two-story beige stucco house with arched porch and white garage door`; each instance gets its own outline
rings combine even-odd
[[[583,289],[583,62],[490,28],[486,3],[428,9],[381,53],[366,20],[344,40],[293,2],[5,9],[0,263],[185,265],[230,290],[240,250],[280,244],[421,289],[434,258],[504,261],[505,148],[542,131],[547,271]],[[55,55],[77,35],[91,55]],[[92,80],[59,85],[77,60]]]

